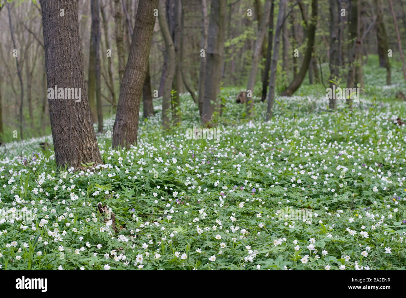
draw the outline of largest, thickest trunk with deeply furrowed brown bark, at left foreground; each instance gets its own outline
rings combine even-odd
[[[48,99],[56,164],[76,169],[84,169],[82,163],[101,164],[84,83],[77,1],[40,2],[48,92],[55,86],[82,90],[78,102]],[[64,17],[59,15],[61,7],[65,9]]]

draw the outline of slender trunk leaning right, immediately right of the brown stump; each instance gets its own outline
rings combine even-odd
[[[265,38],[265,34],[267,31],[267,28],[269,26],[269,15],[271,11],[271,2],[272,0],[267,0],[265,3],[264,11],[263,11],[263,17],[261,18],[261,24],[259,24],[258,28],[258,33],[257,33],[257,38],[255,39],[255,45],[254,45],[254,55],[253,55],[253,60],[251,63],[251,71],[250,75],[248,77],[248,84],[247,84],[247,94],[248,92],[251,93],[251,97],[247,98],[246,101],[246,106],[247,106],[247,115],[249,117],[254,116],[254,100],[253,100],[253,94],[254,94],[254,87],[255,87],[255,79],[257,79],[257,73],[258,73],[258,67],[259,67],[259,59],[262,57],[262,44],[263,44],[263,39]]]

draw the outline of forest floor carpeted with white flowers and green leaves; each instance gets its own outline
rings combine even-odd
[[[352,112],[304,85],[267,123],[266,103],[248,122],[225,88],[218,139],[187,138],[199,112],[182,94],[181,126],[161,135],[156,108],[129,150],[112,150],[105,121],[104,166],[82,172],[56,171],[39,148],[52,137],[2,146],[0,268],[406,269],[406,128],[393,121],[406,88],[379,72],[366,69]]]

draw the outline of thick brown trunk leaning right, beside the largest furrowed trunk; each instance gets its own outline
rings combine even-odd
[[[157,8],[157,2],[158,0],[140,0],[138,6],[113,126],[113,147],[129,148],[137,142],[140,97],[147,75],[149,49],[155,25],[154,9]],[[162,15],[162,11],[158,15]]]

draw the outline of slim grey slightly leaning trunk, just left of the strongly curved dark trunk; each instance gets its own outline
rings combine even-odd
[[[278,66],[278,56],[280,47],[280,37],[283,25],[283,15],[286,7],[287,0],[279,1],[278,20],[276,21],[276,30],[274,36],[274,52],[272,53],[271,75],[269,79],[269,92],[268,92],[268,107],[266,109],[266,121],[272,118],[274,96],[275,96],[275,81],[276,81],[276,68]]]

